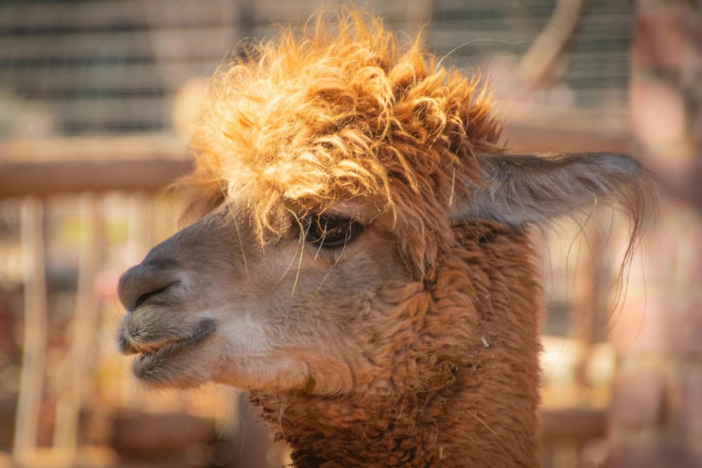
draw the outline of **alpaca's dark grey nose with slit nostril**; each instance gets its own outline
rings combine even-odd
[[[151,297],[179,283],[175,264],[171,260],[145,260],[124,272],[117,289],[124,308],[132,312]]]

